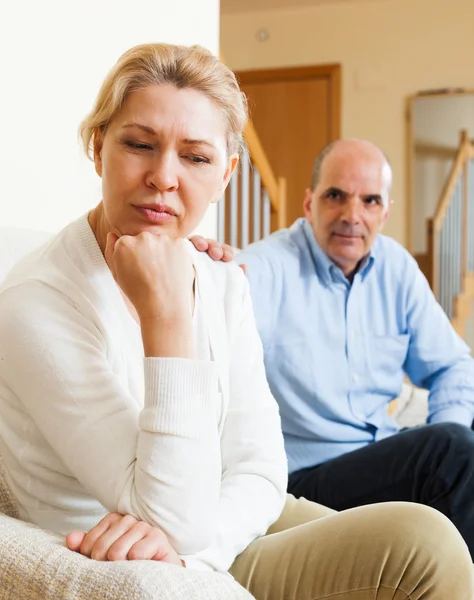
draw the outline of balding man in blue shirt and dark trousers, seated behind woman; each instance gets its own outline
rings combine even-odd
[[[280,405],[288,491],[336,510],[427,504],[474,556],[474,361],[414,259],[380,235],[391,182],[373,144],[334,142],[316,159],[305,218],[237,255]],[[387,406],[405,374],[429,390],[429,416],[399,432]]]

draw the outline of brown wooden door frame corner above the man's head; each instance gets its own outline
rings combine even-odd
[[[310,65],[304,67],[283,67],[271,69],[252,69],[234,71],[241,84],[268,83],[274,81],[304,80],[326,78],[330,89],[328,112],[330,115],[330,138],[337,140],[341,136],[341,80],[342,67],[340,64]]]

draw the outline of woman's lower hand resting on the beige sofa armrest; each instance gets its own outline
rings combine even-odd
[[[71,531],[66,546],[94,560],[158,560],[184,566],[161,529],[131,515],[109,513],[89,533]]]

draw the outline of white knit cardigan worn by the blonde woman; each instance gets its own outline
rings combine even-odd
[[[65,534],[132,514],[189,566],[227,570],[278,518],[287,465],[246,279],[190,252],[204,360],[144,358],[86,216],[14,268],[0,451],[23,519]]]

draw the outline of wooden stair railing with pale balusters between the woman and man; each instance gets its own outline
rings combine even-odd
[[[286,227],[286,179],[275,177],[252,121],[245,148],[224,198],[217,205],[217,239],[245,248]]]

